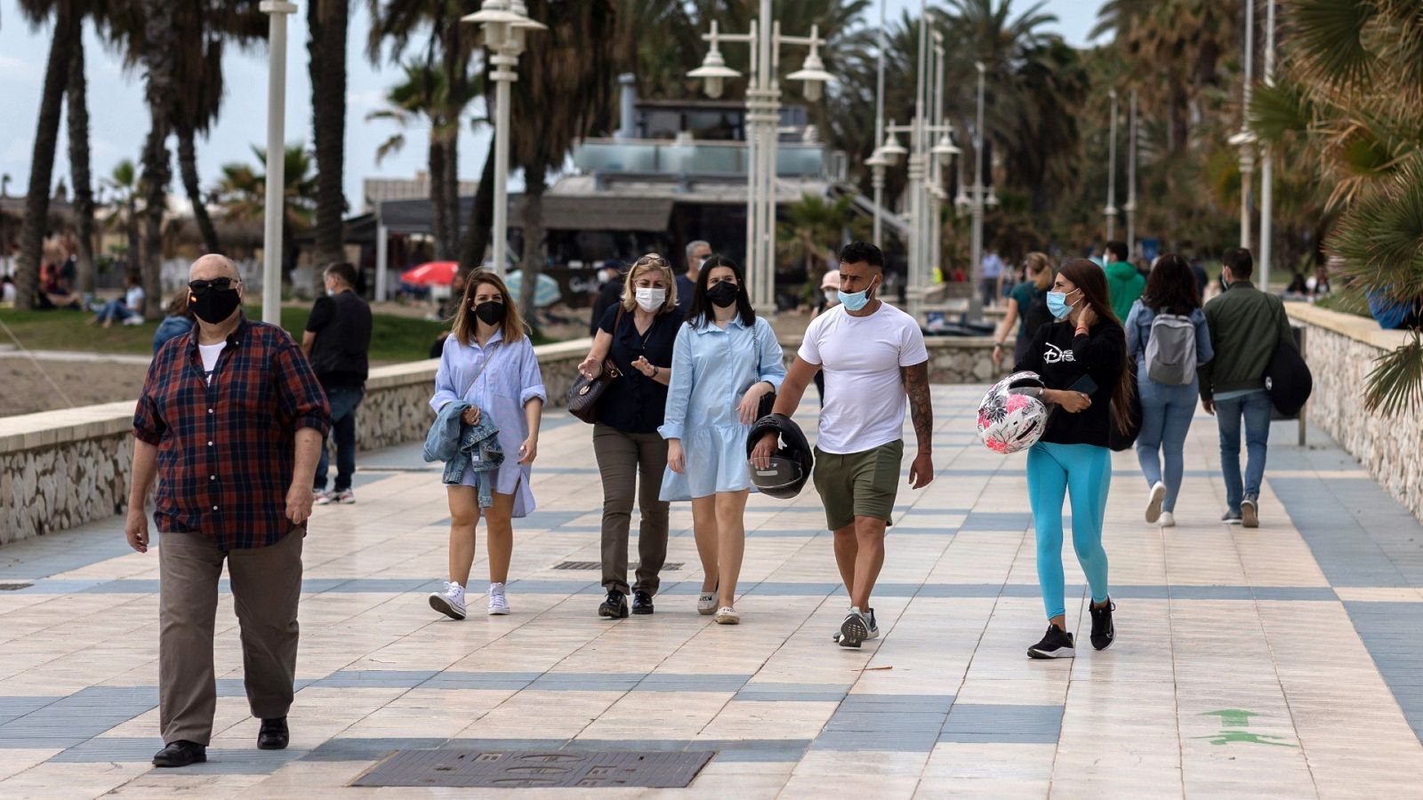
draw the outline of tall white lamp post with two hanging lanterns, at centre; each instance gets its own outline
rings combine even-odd
[[[750,46],[750,84],[746,88],[746,282],[751,305],[761,313],[776,312],[776,151],[780,138],[781,88],[777,78],[783,44],[808,47],[801,68],[788,80],[801,81],[805,100],[821,98],[824,84],[834,80],[820,60],[820,26],[811,26],[810,36],[783,36],[781,23],[771,20],[771,0],[761,0],[760,14],[751,30],[743,34],[712,31],[702,36],[712,47],[702,65],[687,77],[703,78],[709,97],[720,97],[727,78],[741,73],[726,65],[720,43],[739,41]]]

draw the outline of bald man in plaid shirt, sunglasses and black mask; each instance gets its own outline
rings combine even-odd
[[[144,501],[158,481],[159,767],[208,760],[218,690],[212,666],[218,579],[228,564],[258,747],[286,747],[296,672],[302,540],[312,477],[330,423],[306,356],[280,327],[242,313],[231,260],[188,272],[198,325],[165,343],[134,411],[128,544],[148,551]]]

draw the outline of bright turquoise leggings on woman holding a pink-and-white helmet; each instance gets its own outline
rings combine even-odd
[[[1039,441],[1027,451],[1027,497],[1037,531],[1037,585],[1047,619],[1063,616],[1063,497],[1072,493],[1072,545],[1093,602],[1107,599],[1101,518],[1111,487],[1111,451],[1094,444]]]

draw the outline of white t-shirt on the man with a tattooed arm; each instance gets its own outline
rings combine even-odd
[[[798,354],[825,373],[821,450],[845,456],[902,438],[908,394],[899,367],[929,360],[912,316],[888,303],[864,317],[835,306],[811,320]]]

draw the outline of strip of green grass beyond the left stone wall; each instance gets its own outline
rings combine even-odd
[[[250,319],[262,317],[260,306],[248,306]],[[287,306],[282,309],[282,327],[300,342],[309,306]],[[71,310],[17,312],[0,310],[3,322],[20,343],[31,350],[81,350],[88,353],[135,353],[149,354],[154,347],[154,329],[158,323],[115,325],[98,327],[87,325],[94,315]],[[370,359],[373,362],[411,362],[427,357],[430,343],[445,323],[425,319],[411,319],[393,315],[373,315],[370,336]],[[541,343],[535,337],[535,343]],[[0,330],[0,344],[14,344],[10,335]]]

